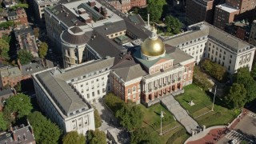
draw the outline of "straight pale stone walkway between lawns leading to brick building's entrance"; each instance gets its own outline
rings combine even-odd
[[[174,114],[174,117],[186,128],[188,133],[192,134],[192,130],[198,130],[198,122],[195,122],[194,119],[187,114],[186,110],[179,105],[173,95],[162,98],[161,103],[170,113]]]

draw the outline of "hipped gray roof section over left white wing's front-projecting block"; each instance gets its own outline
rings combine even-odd
[[[54,77],[50,71],[42,72],[37,77],[63,114],[67,115],[82,108],[88,109],[86,103],[82,102],[82,99],[78,97],[71,86],[62,79]]]

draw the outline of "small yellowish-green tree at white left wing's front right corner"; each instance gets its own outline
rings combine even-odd
[[[105,144],[106,143],[106,134],[103,131],[100,131],[98,129],[89,130],[87,132],[87,141],[90,144]]]

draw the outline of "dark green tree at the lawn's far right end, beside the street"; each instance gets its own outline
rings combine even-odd
[[[246,89],[242,84],[234,83],[225,99],[230,108],[242,108],[246,103]]]

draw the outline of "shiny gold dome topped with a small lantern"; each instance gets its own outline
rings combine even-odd
[[[142,43],[141,51],[146,56],[160,56],[166,52],[165,45],[162,40],[158,38],[157,30],[154,28],[151,30],[150,38]]]

